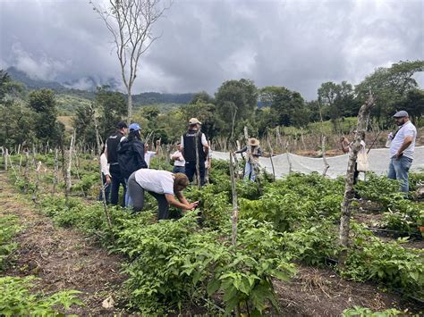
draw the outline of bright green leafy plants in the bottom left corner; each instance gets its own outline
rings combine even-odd
[[[17,315],[61,315],[57,311],[68,310],[72,304],[82,305],[77,297],[81,292],[66,290],[51,296],[43,296],[40,293],[32,293],[34,288],[32,276],[26,278],[3,277],[0,278],[0,314],[4,316]]]

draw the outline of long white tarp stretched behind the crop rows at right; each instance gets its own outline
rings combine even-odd
[[[214,159],[229,160],[230,154],[225,152],[213,152]],[[240,154],[237,154],[241,157]],[[289,162],[292,163],[292,171],[299,171],[308,174],[312,171],[322,173],[324,171],[324,161],[322,158],[313,158],[296,154],[279,154],[273,156],[272,160],[276,170],[276,178],[281,178],[289,173]],[[348,154],[327,157],[326,162],[330,165],[326,175],[331,178],[336,178],[340,175],[345,175],[347,170]],[[260,168],[265,168],[269,173],[272,173],[271,160],[269,157],[259,157]],[[389,164],[389,149],[376,148],[369,151],[369,171],[374,171],[377,174],[386,174]],[[213,165],[212,165],[213,166]],[[411,166],[411,171],[424,170],[424,146],[416,146],[414,160]]]

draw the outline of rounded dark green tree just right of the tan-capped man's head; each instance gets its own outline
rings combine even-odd
[[[216,111],[224,121],[223,132],[232,133],[235,119],[236,129],[243,129],[244,121],[251,120],[258,107],[258,88],[250,79],[225,81],[216,92]]]

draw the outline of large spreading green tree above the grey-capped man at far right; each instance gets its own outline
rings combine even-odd
[[[355,88],[360,104],[368,98],[369,89],[375,97],[375,106],[371,116],[377,120],[382,128],[392,123],[395,104],[401,103],[408,92],[418,88],[413,75],[424,70],[424,61],[406,61],[392,64],[391,67],[377,68]]]

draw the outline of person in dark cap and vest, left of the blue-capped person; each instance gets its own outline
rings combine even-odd
[[[109,173],[111,177],[111,194],[110,204],[118,204],[119,187],[123,186],[123,195],[126,193],[125,180],[121,174],[121,169],[118,163],[118,145],[125,138],[128,133],[128,126],[125,122],[121,121],[116,125],[116,132],[107,138],[105,154],[107,163],[109,163]],[[124,201],[123,204],[124,205]]]

